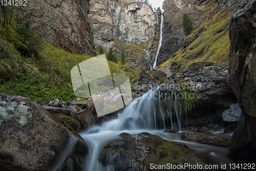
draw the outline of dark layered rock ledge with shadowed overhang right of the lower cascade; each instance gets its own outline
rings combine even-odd
[[[178,88],[192,90],[197,96],[194,108],[187,115],[188,126],[224,124],[222,113],[237,102],[227,84],[227,75],[227,63],[198,62],[175,77],[176,83],[181,85]],[[193,96],[187,94],[185,98],[189,100],[190,97]]]

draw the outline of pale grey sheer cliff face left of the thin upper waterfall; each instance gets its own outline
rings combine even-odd
[[[156,15],[147,3],[92,0],[89,20],[95,44],[105,49],[139,45],[154,37]]]

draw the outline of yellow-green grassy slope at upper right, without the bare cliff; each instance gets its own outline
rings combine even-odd
[[[181,48],[171,58],[162,63],[158,69],[166,71],[166,69],[170,68],[172,63],[177,62],[176,65],[180,65],[180,68],[175,72],[179,73],[194,62],[228,62],[230,46],[228,26],[225,27],[222,32],[218,34],[217,32],[222,27],[228,25],[233,10],[234,7],[231,7],[224,12],[220,12],[220,8],[215,7],[214,1],[212,1],[206,12],[202,14],[204,19],[199,28],[196,28],[193,33],[186,37],[186,39],[189,39],[196,34],[199,34],[200,36],[191,42],[185,49]],[[199,33],[200,30],[203,31]],[[198,56],[197,54],[199,52],[202,52],[202,55]]]

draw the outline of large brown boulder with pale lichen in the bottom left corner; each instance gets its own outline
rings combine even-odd
[[[89,153],[47,110],[29,98],[0,93],[0,170],[81,170]]]

